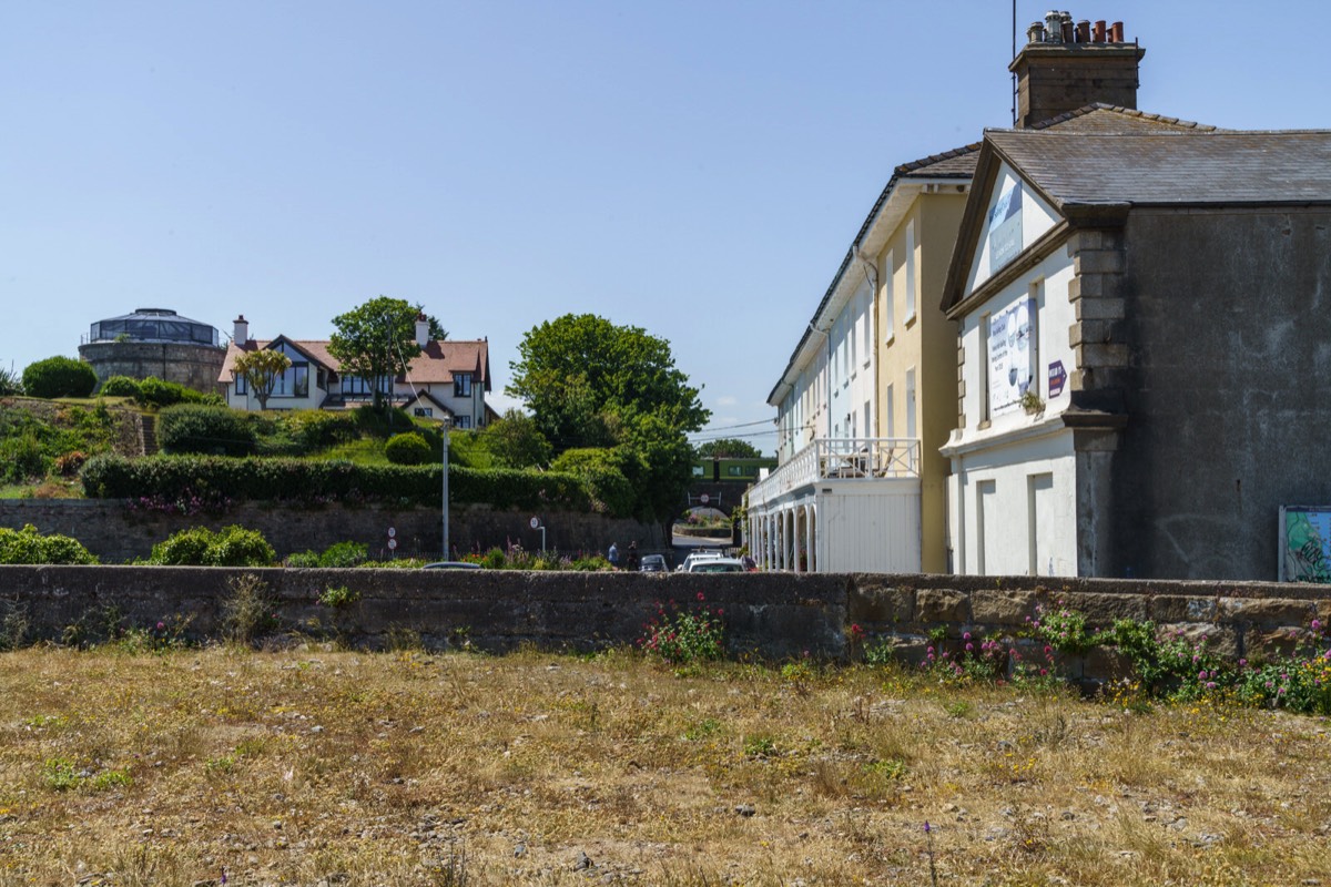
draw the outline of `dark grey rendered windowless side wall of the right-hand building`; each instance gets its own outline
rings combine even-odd
[[[1279,505],[1331,504],[1331,207],[1137,207],[1123,237],[1101,574],[1274,580]]]

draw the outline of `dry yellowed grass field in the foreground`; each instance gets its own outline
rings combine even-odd
[[[1331,884],[1328,729],[623,650],[32,649],[0,887]]]

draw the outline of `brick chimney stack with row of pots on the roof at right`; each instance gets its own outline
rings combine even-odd
[[[1017,74],[1017,126],[1094,102],[1137,108],[1137,65],[1146,51],[1123,40],[1123,23],[1105,27],[1049,11],[1026,29],[1029,43],[1008,69]]]

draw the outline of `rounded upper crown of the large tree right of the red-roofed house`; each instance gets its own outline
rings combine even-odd
[[[566,314],[531,328],[518,354],[504,390],[522,398],[560,451],[618,443],[612,416],[651,415],[679,432],[697,431],[711,416],[675,367],[669,343],[642,327]]]

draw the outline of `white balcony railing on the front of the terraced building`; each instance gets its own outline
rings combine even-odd
[[[918,477],[914,438],[819,438],[749,488],[749,507],[820,480]]]

